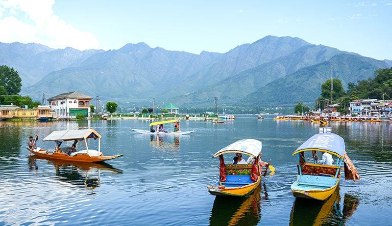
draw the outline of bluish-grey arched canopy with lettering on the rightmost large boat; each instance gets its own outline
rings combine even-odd
[[[292,155],[304,151],[325,151],[343,158],[346,152],[345,140],[334,133],[317,133],[302,144]]]

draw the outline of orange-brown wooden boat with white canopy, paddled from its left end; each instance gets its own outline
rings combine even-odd
[[[98,151],[88,149],[87,140],[89,138],[98,139]],[[110,160],[118,158],[122,155],[111,155],[104,156],[101,152],[101,135],[94,129],[81,129],[81,130],[61,130],[53,131],[51,134],[42,139],[44,142],[52,140],[55,142],[54,150],[44,150],[44,149],[30,149],[26,147],[31,153],[42,158],[48,159],[59,159],[65,161],[75,161],[75,162],[101,162],[105,160]],[[60,148],[63,141],[75,140],[74,144],[79,140],[84,140],[86,149],[82,151],[77,151],[71,154],[66,153],[67,148]]]

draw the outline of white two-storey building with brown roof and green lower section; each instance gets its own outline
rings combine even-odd
[[[62,93],[47,99],[56,118],[76,118],[78,113],[88,117],[91,114],[92,97],[77,91]]]

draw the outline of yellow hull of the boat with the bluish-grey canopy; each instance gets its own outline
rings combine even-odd
[[[291,184],[291,192],[295,197],[324,201],[328,199],[333,192],[335,192],[338,183],[339,179],[336,180],[336,184],[332,187],[324,189],[309,189],[299,187],[298,181],[296,181]]]

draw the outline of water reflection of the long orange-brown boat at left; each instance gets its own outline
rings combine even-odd
[[[81,185],[89,189],[99,187],[101,183],[101,171],[110,171],[122,174],[121,170],[114,168],[106,162],[70,162],[64,160],[45,159],[38,156],[29,157],[30,171],[38,171],[37,159],[42,159],[55,166],[56,178]]]

